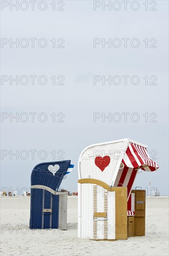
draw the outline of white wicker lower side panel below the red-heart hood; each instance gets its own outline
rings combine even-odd
[[[94,217],[94,213],[106,213],[106,217]],[[78,237],[115,239],[115,192],[78,183]]]

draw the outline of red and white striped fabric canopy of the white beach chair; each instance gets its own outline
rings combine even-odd
[[[127,187],[128,198],[131,189],[138,174],[138,170],[155,171],[159,166],[150,159],[147,149],[144,146],[130,142],[123,157],[122,163],[124,167],[119,169],[116,177],[115,186]]]

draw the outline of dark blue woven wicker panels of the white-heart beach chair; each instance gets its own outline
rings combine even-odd
[[[31,186],[42,185],[54,191],[59,189],[70,160],[40,163],[31,173]],[[50,168],[49,168],[50,166]],[[53,174],[50,170],[57,171]],[[44,212],[44,209],[51,211]],[[59,218],[59,195],[53,195],[45,189],[31,189],[30,229],[57,229]]]

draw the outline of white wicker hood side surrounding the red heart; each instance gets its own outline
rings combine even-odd
[[[128,139],[124,139],[94,144],[85,148],[78,162],[79,179],[93,178],[114,186],[120,163],[129,143]],[[101,170],[103,168],[100,169],[96,165],[96,157],[98,156],[101,156],[100,161],[102,161],[104,156],[110,157],[110,163],[104,170]]]

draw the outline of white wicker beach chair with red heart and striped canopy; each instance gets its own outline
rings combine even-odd
[[[85,148],[78,162],[78,237],[145,235],[145,190],[132,190],[140,170],[155,171],[147,146],[123,139]]]

